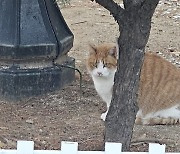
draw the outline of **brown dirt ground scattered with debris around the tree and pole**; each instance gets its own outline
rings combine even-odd
[[[119,4],[121,1],[117,1]],[[85,61],[88,43],[115,42],[118,25],[104,8],[90,0],[71,0],[61,9],[74,33],[69,55],[83,74],[82,93],[79,77],[64,89],[20,102],[0,101],[0,148],[16,148],[17,140],[33,140],[36,149],[60,149],[61,141],[77,141],[80,150],[103,150],[105,111]],[[180,66],[180,2],[161,0],[152,20],[147,51],[165,56]],[[166,144],[166,151],[180,152],[180,125],[137,126],[132,151],[147,151],[149,142]]]

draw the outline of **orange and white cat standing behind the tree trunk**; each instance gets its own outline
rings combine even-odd
[[[87,69],[95,89],[107,104],[107,111],[101,115],[103,120],[112,98],[117,49],[113,43],[90,45],[87,59]],[[140,76],[138,106],[136,124],[180,123],[180,69],[154,53],[146,53]]]

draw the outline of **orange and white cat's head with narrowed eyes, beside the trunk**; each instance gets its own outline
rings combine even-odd
[[[116,44],[104,43],[99,46],[90,45],[87,69],[94,77],[114,77],[117,69]]]

